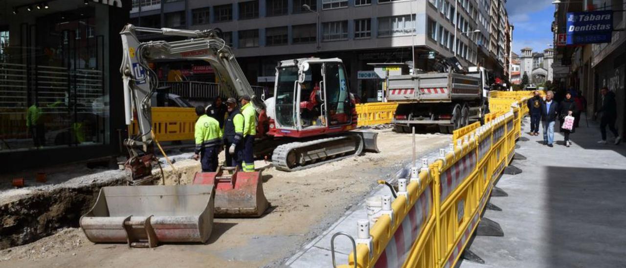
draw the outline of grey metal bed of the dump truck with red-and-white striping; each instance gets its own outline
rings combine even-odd
[[[456,73],[389,76],[387,101],[452,102],[480,99],[480,78]]]

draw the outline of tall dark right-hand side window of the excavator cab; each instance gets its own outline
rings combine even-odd
[[[324,91],[326,91],[326,109],[330,125],[351,123],[352,103],[347,86],[346,70],[341,63],[324,63]]]

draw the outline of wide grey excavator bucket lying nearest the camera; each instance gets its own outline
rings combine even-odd
[[[103,187],[80,226],[95,243],[205,243],[213,228],[214,197],[212,184]]]

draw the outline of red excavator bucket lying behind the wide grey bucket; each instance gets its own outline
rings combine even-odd
[[[215,185],[215,217],[260,217],[269,202],[263,192],[260,172],[240,172],[218,167],[217,172],[198,172],[194,185]]]

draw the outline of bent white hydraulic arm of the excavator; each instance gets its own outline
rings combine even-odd
[[[137,32],[158,33],[164,36],[184,36],[190,39],[182,41],[148,41],[140,42]],[[260,98],[254,96],[254,91],[245,78],[237,59],[232,50],[219,37],[219,29],[205,31],[184,30],[170,28],[144,28],[133,24],[126,24],[120,32],[123,46],[123,58],[120,73],[123,80],[125,122],[131,125],[133,119],[138,123],[138,135],[125,140],[125,145],[130,152],[131,158],[135,159],[134,165],[146,165],[147,156],[152,154],[152,123],[150,98],[158,86],[158,76],[150,70],[148,63],[156,59],[171,60],[194,60],[207,61],[215,70],[219,78],[220,90],[228,97],[240,97],[249,95],[252,97],[252,105],[257,112],[265,110],[265,105]],[[135,118],[136,117],[136,118]],[[138,150],[141,149],[141,150]],[[140,152],[142,151],[142,152]],[[144,160],[137,161],[144,158]],[[148,176],[148,168],[131,167],[132,163],[126,163],[131,170],[133,180]],[[143,171],[142,171],[143,170]]]

